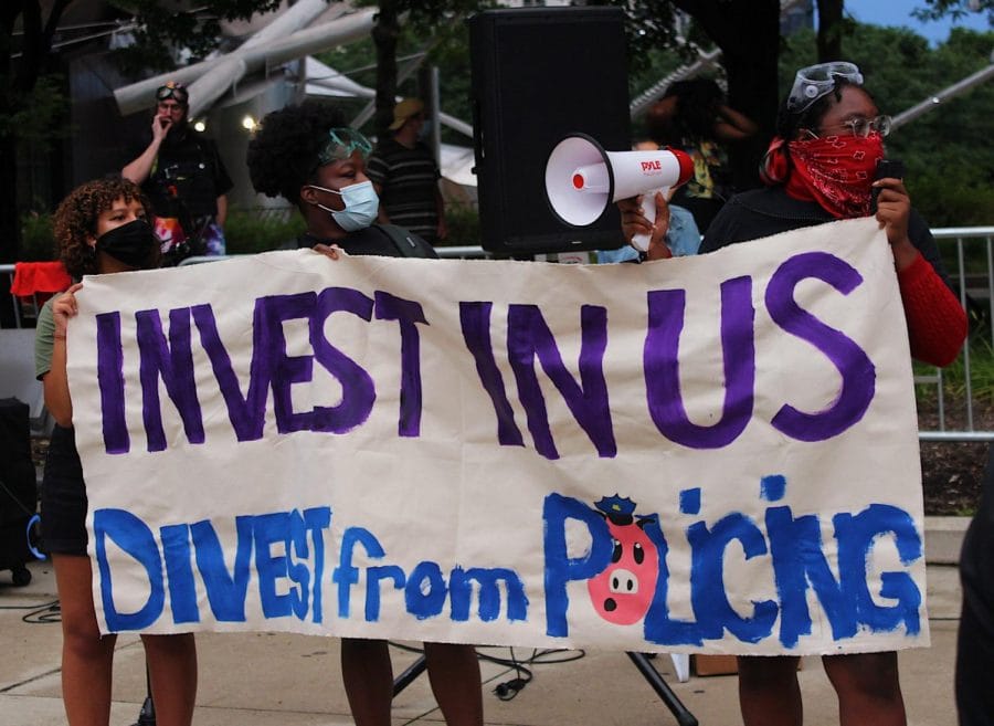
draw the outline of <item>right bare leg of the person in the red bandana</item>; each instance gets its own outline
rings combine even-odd
[[[842,726],[905,726],[905,699],[898,680],[897,653],[852,653],[822,659],[838,694]]]

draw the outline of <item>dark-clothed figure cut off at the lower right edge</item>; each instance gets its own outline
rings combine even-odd
[[[960,726],[988,726],[994,718],[994,446],[980,506],[960,553],[963,609],[956,636],[956,711]]]

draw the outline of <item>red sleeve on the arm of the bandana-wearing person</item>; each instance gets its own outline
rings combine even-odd
[[[960,301],[921,255],[898,272],[898,284],[911,356],[933,366],[948,366],[966,339],[966,313]]]

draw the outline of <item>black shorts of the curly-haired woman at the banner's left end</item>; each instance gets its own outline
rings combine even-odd
[[[52,431],[41,491],[41,548],[86,556],[86,484],[72,429]]]

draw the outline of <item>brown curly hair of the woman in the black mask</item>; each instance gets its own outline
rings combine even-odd
[[[96,254],[87,240],[96,236],[97,220],[118,199],[128,203],[137,199],[151,217],[151,206],[141,189],[123,177],[84,182],[73,189],[55,210],[52,227],[56,251],[73,278],[80,280],[83,275],[98,272]]]

